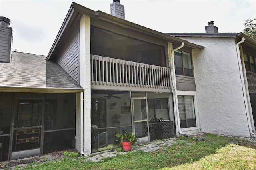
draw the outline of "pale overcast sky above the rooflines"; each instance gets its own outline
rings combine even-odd
[[[72,4],[110,14],[113,0],[0,0],[0,16],[11,20],[12,50],[47,56]],[[121,0],[125,19],[163,33],[243,32],[256,18],[255,0]]]

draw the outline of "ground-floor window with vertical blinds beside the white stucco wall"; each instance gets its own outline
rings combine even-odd
[[[193,96],[178,96],[180,128],[196,127]]]

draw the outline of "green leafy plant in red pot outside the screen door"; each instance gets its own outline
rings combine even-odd
[[[136,145],[136,142],[138,143],[135,133],[125,132],[124,134],[120,134],[119,138],[125,152],[130,151],[132,148],[132,145]],[[138,143],[138,145],[140,144]]]

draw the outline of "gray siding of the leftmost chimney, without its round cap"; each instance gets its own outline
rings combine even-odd
[[[0,26],[0,62],[11,61],[12,27]]]

